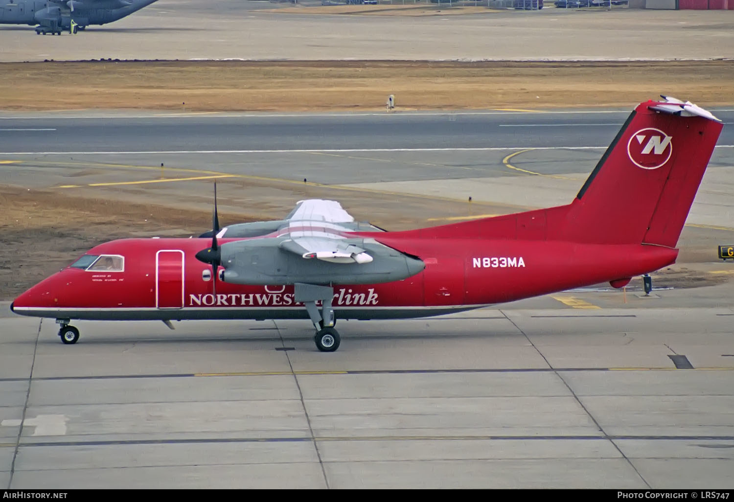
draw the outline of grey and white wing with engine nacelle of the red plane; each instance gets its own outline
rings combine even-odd
[[[235,227],[245,238],[223,243],[219,252],[226,283],[376,284],[402,280],[425,267],[418,257],[355,236],[357,230],[375,228],[355,222],[333,200],[301,200],[286,219]]]

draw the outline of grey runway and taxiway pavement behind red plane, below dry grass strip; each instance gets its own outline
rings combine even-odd
[[[688,222],[731,228],[734,112],[713,112],[724,130]],[[256,206],[262,183],[297,190],[305,179],[345,207],[357,193],[411,194],[471,197],[488,206],[470,214],[496,214],[568,203],[628,113],[4,114],[0,172],[6,183],[34,189],[141,202],[154,190],[198,208],[211,206],[202,186],[237,181],[238,189],[221,192],[222,207],[233,211]],[[264,214],[283,217],[299,197],[261,200]],[[383,210],[400,211],[389,205],[355,217],[384,222]]]

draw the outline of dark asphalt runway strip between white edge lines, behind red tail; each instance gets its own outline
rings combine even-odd
[[[650,96],[654,98],[654,96]],[[374,114],[0,114],[3,153],[606,148],[633,109]],[[97,114],[103,114],[98,112]],[[734,125],[734,109],[713,110]],[[734,145],[724,127],[719,145]]]

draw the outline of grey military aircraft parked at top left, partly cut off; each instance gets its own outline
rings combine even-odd
[[[38,25],[36,34],[76,33],[90,24],[117,21],[156,0],[7,0],[0,23]]]

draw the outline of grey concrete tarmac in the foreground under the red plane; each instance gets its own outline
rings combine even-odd
[[[340,321],[333,354],[299,321],[80,321],[64,346],[48,319],[0,319],[0,481],[731,487],[733,308],[525,302]]]

